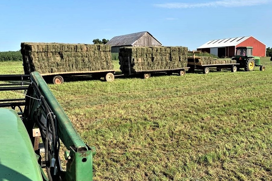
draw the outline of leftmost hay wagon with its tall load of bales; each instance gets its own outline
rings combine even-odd
[[[92,76],[114,80],[109,45],[21,43],[24,73],[38,71],[54,84],[62,84],[63,77]]]

